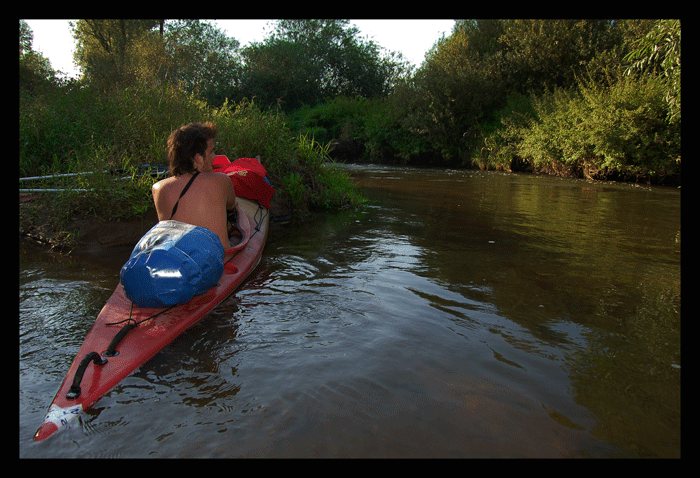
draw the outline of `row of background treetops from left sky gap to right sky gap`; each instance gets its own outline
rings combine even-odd
[[[289,111],[341,95],[385,96],[407,71],[349,20],[279,20],[243,49],[200,20],[78,20],[73,34],[89,82],[166,83],[219,105],[254,98]]]

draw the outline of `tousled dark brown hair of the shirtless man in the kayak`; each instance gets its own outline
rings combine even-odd
[[[211,122],[190,123],[180,126],[168,137],[170,174],[180,176],[194,173],[194,157],[204,155],[207,142],[216,138],[216,125]]]

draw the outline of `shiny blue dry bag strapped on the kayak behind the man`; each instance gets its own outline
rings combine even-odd
[[[203,227],[161,221],[136,244],[119,274],[139,307],[184,304],[215,286],[224,272],[219,236]]]

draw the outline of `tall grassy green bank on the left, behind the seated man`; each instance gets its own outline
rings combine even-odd
[[[167,163],[168,135],[193,121],[217,124],[216,153],[261,158],[277,191],[274,214],[298,219],[314,209],[362,202],[346,174],[326,164],[328,146],[293,134],[280,116],[253,102],[212,108],[169,88],[105,93],[77,83],[47,85],[20,93],[20,177],[91,174],[21,182],[20,189],[80,190],[21,203],[21,232],[70,245],[79,234],[77,219],[113,223],[149,214],[157,178],[139,166]]]

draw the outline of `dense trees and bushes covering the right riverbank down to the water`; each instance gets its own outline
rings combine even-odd
[[[680,20],[458,20],[380,98],[289,114],[336,158],[681,182]]]

